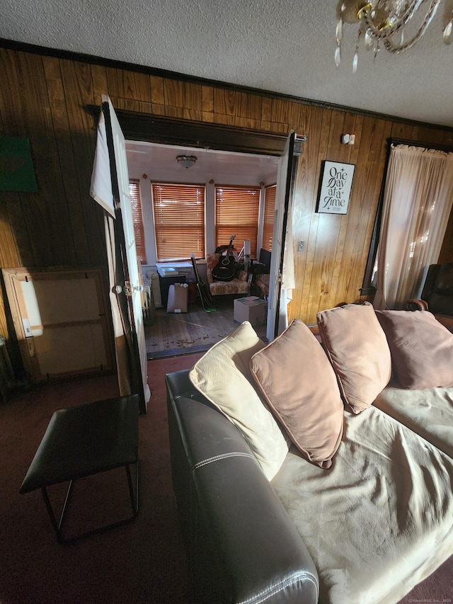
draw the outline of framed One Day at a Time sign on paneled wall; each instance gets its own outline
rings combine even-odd
[[[324,161],[318,212],[323,214],[348,214],[354,170],[354,164]]]

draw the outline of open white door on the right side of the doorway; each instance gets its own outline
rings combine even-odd
[[[272,238],[272,254],[270,256],[269,297],[268,297],[268,323],[266,337],[273,339],[285,329],[287,321],[287,304],[285,295],[282,296],[282,275],[284,272],[285,243],[288,228],[291,227],[291,205],[294,191],[294,176],[296,157],[294,156],[294,142],[296,133],[290,132],[285,144],[285,149],[280,156],[277,170],[277,188],[275,190],[275,214]],[[292,238],[287,241],[288,248],[292,251]],[[292,256],[292,254],[290,254]],[[291,258],[292,261],[292,258]],[[294,270],[287,266],[286,269]],[[283,292],[284,294],[285,292]]]

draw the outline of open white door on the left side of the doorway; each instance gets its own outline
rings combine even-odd
[[[141,380],[137,380],[139,382],[137,388],[140,398],[140,410],[144,413],[150,397],[147,373],[147,348],[144,337],[141,276],[139,275],[140,269],[137,260],[137,250],[135,249],[134,224],[129,195],[129,172],[127,170],[125,137],[122,134],[110,98],[107,95],[103,95],[102,101],[105,134],[110,159],[115,221],[122,225],[122,228],[115,229],[115,235],[117,234],[118,239],[120,239],[119,244],[125,273],[125,283],[117,284],[118,295],[125,295],[127,297],[132,334],[132,363],[135,365],[137,375],[142,377]],[[122,291],[120,291],[120,287]]]

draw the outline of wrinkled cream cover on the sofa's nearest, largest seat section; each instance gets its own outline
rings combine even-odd
[[[453,554],[453,460],[374,407],[345,411],[331,469],[292,448],[272,484],[321,604],[396,603]]]

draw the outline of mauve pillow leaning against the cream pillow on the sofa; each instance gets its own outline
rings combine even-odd
[[[250,360],[251,374],[294,445],[328,468],[343,433],[343,403],[320,343],[294,319]]]

